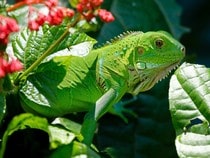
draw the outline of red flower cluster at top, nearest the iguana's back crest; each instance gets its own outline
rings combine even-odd
[[[77,11],[81,13],[87,21],[99,16],[103,22],[114,21],[114,16],[111,12],[100,9],[103,0],[79,0],[77,4]]]

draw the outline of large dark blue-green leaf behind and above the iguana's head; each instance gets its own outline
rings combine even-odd
[[[115,0],[110,11],[115,21],[104,24],[98,38],[100,42],[127,30],[165,30],[177,39],[188,31],[180,24],[181,8],[175,0]]]

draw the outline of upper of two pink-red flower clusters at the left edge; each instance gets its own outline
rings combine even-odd
[[[9,17],[0,15],[0,43],[6,45],[8,43],[9,34],[19,31],[17,22]]]

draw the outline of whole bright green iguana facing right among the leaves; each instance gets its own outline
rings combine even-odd
[[[177,67],[184,55],[185,47],[164,31],[131,32],[86,56],[60,57],[52,60],[54,64],[45,64],[45,77],[53,82],[56,68],[66,66],[68,62],[65,81],[55,87],[43,88],[48,84],[40,77],[44,75],[31,75],[20,90],[21,102],[26,111],[47,117],[91,111],[89,121],[87,119],[83,126],[88,128],[125,93],[137,95],[152,88]],[[47,75],[49,71],[55,74]],[[35,90],[26,92],[27,89]],[[41,99],[35,97],[36,93],[41,94]],[[62,103],[57,102],[62,99]]]

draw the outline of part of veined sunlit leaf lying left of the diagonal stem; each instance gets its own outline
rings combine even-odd
[[[45,25],[39,31],[24,29],[12,41],[13,52],[27,69],[64,33],[66,27]],[[52,53],[52,52],[51,52]]]

